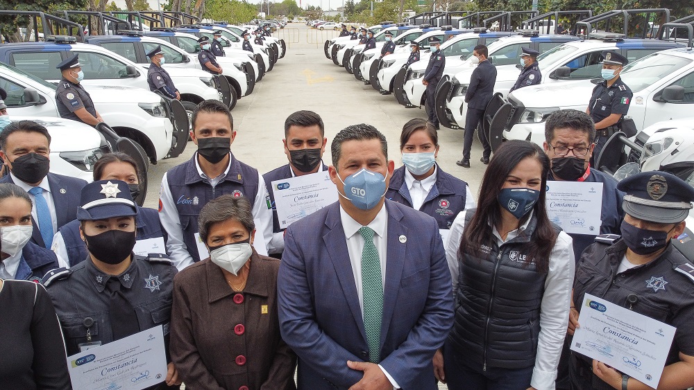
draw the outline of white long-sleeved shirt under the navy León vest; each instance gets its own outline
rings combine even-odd
[[[210,186],[217,186],[228,174],[231,168],[231,159],[229,159],[229,164],[221,175],[214,179],[210,179],[210,177],[205,175],[202,168],[200,168],[197,155],[196,152],[194,161],[198,170],[198,175],[203,178],[205,183],[210,184]],[[192,265],[194,261],[192,256],[188,253],[188,248],[183,241],[183,229],[180,225],[180,216],[176,209],[176,201],[174,201],[174,197],[171,195],[171,188],[169,188],[168,173],[169,172],[164,173],[164,177],[162,177],[162,186],[159,191],[159,200],[161,202],[159,220],[162,222],[162,227],[167,231],[167,235],[169,236],[166,242],[167,253],[171,260],[174,261],[176,268],[180,271]],[[255,240],[253,241],[253,247],[258,254],[267,256],[267,244],[272,238],[272,211],[267,208],[265,202],[267,190],[265,188],[265,181],[260,176],[260,173],[257,177],[257,187],[257,194],[255,195],[255,200],[253,200],[253,222],[255,222]],[[190,248],[190,250],[197,251],[198,249]]]

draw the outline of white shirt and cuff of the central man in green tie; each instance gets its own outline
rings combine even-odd
[[[362,292],[362,251],[364,250],[364,238],[362,234],[359,233],[359,229],[362,228],[362,224],[355,221],[354,218],[342,209],[340,206],[340,220],[342,222],[342,229],[345,233],[345,239],[347,240],[347,251],[349,253],[349,262],[352,265],[352,273],[354,275],[354,281],[357,285],[357,296],[359,297],[359,308],[362,309],[362,317],[364,316],[364,293]],[[383,204],[380,211],[376,214],[373,221],[366,225],[373,230],[373,245],[378,251],[378,260],[381,263],[381,281],[383,282],[383,294],[385,294],[385,284],[386,284],[386,256],[388,249],[388,212],[386,211],[386,206]],[[386,375],[386,378],[391,382],[394,388],[400,389],[398,382],[391,377],[391,375],[383,369],[383,367],[378,365]]]

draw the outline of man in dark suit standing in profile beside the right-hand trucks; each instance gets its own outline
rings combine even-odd
[[[468,104],[468,112],[465,116],[465,141],[463,143],[463,159],[455,163],[463,168],[470,168],[470,148],[473,145],[473,132],[480,125],[484,117],[484,110],[489,104],[494,94],[494,84],[496,84],[496,67],[487,60],[489,51],[484,45],[477,45],[473,50],[473,62],[478,62],[477,68],[471,76],[470,86],[465,94],[465,103]],[[480,127],[481,128],[481,127]],[[484,164],[489,163],[491,156],[491,146],[486,139],[486,134],[480,131],[477,134],[482,141],[484,153],[480,161]]]

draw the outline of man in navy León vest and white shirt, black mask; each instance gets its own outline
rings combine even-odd
[[[255,250],[267,254],[272,237],[272,213],[265,202],[265,182],[258,171],[231,152],[236,138],[234,119],[219,100],[205,100],[192,116],[190,134],[198,150],[192,159],[162,177],[159,218],[166,230],[167,253],[178,269],[208,257],[198,233],[198,214],[221,195],[245,196],[253,204]]]

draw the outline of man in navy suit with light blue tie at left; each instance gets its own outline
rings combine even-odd
[[[31,242],[51,248],[53,235],[77,218],[80,194],[87,181],[49,173],[51,134],[34,121],[12,122],[0,133],[0,158],[10,175],[0,183],[14,183],[31,197]]]

